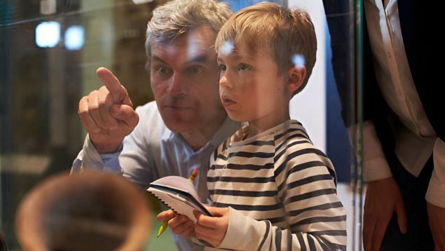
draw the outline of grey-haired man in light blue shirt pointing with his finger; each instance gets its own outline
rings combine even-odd
[[[210,155],[240,126],[227,118],[219,100],[213,48],[230,15],[226,4],[214,0],[175,0],[156,8],[146,38],[156,102],[134,110],[116,76],[97,69],[104,86],[79,102],[88,136],[72,171],[121,172],[145,189],[160,177],[189,177],[198,168],[196,186],[205,201]],[[174,240],[179,250],[202,248],[180,236]]]

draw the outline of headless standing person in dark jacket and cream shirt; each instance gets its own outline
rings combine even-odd
[[[421,41],[434,8],[417,1],[365,0],[363,25],[365,250],[445,250],[445,123],[434,53]],[[342,97],[350,69],[348,3],[324,0]],[[346,15],[345,15],[346,14]],[[434,39],[431,39],[433,42]],[[418,48],[415,45],[418,45]],[[346,110],[346,126],[357,121]],[[434,240],[434,241],[433,241]]]

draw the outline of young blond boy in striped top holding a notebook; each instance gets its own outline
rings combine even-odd
[[[315,64],[305,11],[271,3],[228,19],[215,48],[228,116],[245,121],[210,160],[214,217],[196,212],[196,237],[230,250],[346,250],[346,215],[334,167],[289,117]]]

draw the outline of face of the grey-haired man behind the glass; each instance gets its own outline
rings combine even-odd
[[[151,43],[151,88],[165,125],[174,132],[200,130],[225,116],[215,38],[203,26],[170,43]]]

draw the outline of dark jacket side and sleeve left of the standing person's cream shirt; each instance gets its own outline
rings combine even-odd
[[[388,123],[391,111],[377,85],[367,25],[355,22],[357,10],[348,0],[323,0],[323,5],[343,123],[349,127],[359,121],[372,121],[391,163],[395,158],[395,140]]]

